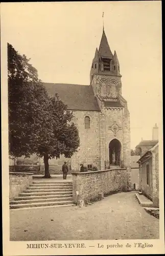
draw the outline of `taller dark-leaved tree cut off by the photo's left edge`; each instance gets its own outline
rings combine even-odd
[[[8,44],[9,154],[29,157],[49,101],[37,70]],[[42,102],[42,104],[40,104]]]

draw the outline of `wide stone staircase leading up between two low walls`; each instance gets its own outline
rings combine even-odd
[[[32,185],[10,202],[11,209],[73,205],[72,181],[33,181]]]

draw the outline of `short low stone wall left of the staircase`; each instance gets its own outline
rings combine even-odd
[[[13,200],[21,193],[23,189],[26,189],[33,183],[32,173],[9,173],[10,193],[9,199]]]

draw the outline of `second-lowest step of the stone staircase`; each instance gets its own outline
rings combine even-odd
[[[42,198],[42,199],[25,199],[11,201],[10,204],[27,204],[27,203],[40,203],[40,202],[59,202],[59,201],[72,201],[72,197],[61,197],[61,198]]]

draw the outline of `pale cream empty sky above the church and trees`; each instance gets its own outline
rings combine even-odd
[[[1,36],[43,82],[89,84],[104,30],[122,74],[131,148],[162,125],[161,2],[2,3]]]

